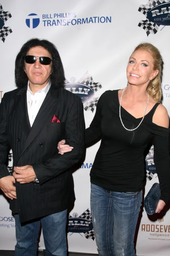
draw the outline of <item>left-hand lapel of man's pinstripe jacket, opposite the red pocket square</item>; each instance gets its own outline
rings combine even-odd
[[[28,110],[27,110],[27,99],[26,99],[26,91],[27,87],[23,87],[15,96],[15,106],[16,106],[16,116],[25,132],[26,136],[28,136],[31,126],[28,118]]]

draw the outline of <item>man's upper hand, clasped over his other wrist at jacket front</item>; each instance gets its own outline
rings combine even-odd
[[[30,183],[34,181],[36,174],[32,166],[16,166],[13,172],[14,178],[21,184]]]

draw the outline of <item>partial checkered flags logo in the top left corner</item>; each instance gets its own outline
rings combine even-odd
[[[10,12],[4,12],[3,6],[0,4],[0,40],[5,42],[6,37],[12,33],[12,29],[5,26],[8,19],[12,17]]]

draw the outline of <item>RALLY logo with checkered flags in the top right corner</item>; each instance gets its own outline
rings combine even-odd
[[[159,26],[170,26],[170,2],[164,0],[149,0],[146,5],[141,5],[138,9],[146,16],[146,20],[141,20],[139,27],[149,34],[156,34]]]

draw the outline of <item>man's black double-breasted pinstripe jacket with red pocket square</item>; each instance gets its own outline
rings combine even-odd
[[[0,178],[9,175],[5,162],[10,146],[13,166],[33,166],[40,182],[16,182],[17,200],[10,200],[10,209],[19,212],[21,222],[67,209],[74,200],[69,168],[84,148],[84,116],[78,96],[51,85],[31,127],[26,91],[23,87],[5,93],[0,104]],[[50,122],[54,115],[60,123]],[[57,144],[64,138],[74,150],[60,155]]]

